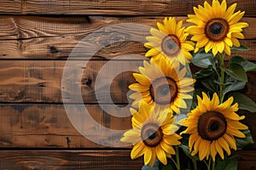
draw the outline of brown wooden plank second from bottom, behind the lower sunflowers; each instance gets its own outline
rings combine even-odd
[[[70,106],[73,109],[83,105]],[[102,107],[102,105],[85,105],[97,125],[116,130],[131,128],[131,116],[128,116],[130,112],[128,108],[122,107],[124,105],[119,105],[119,108],[113,108],[113,105],[105,105],[105,111],[102,111],[100,106]],[[122,112],[119,110],[120,108],[123,108]],[[102,148],[118,146],[122,133],[108,132],[102,128],[96,128],[89,119],[84,121],[88,127],[84,127],[84,131],[78,131],[74,127],[77,124],[73,123],[73,119],[68,118],[70,112],[67,111],[63,105],[1,104],[0,147]],[[73,109],[74,116],[77,116],[78,112],[79,109]],[[113,114],[116,116],[113,116]],[[247,111],[240,111],[240,114],[246,116],[243,123],[247,124],[255,140],[256,114]],[[101,129],[101,131],[96,131],[96,129]],[[86,138],[80,132],[86,132]],[[90,140],[101,140],[101,143],[94,143]],[[255,143],[252,149],[256,149]]]

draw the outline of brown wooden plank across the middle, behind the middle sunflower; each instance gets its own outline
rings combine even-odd
[[[137,71],[138,66],[143,65],[143,60],[110,60],[108,62],[91,60],[87,65],[82,61],[69,63],[74,68],[78,68],[75,69],[77,73],[71,72],[67,77],[63,77],[63,80],[69,78],[76,80],[71,85],[81,87],[83,101],[77,101],[81,95],[78,91],[67,89],[68,86],[65,84],[61,86],[66,61],[2,60],[0,61],[0,102],[62,103],[62,90],[65,96],[69,96],[69,99],[65,100],[66,103],[110,104],[109,101],[112,99],[113,103],[127,104],[127,93],[131,93],[128,86],[135,82],[131,73]],[[129,71],[125,71],[127,68]],[[191,69],[196,70],[195,67]],[[81,81],[78,77],[79,72],[82,74]],[[113,74],[116,74],[116,77]],[[244,93],[254,101],[256,101],[255,76],[255,71],[248,73],[249,81],[244,90]]]

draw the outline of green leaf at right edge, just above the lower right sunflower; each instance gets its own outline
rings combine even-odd
[[[256,112],[256,103],[246,95],[240,93],[230,93],[229,96],[234,97],[235,102],[238,103],[239,109],[250,111],[252,113]]]

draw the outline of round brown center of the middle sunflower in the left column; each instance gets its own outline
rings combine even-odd
[[[155,79],[149,90],[151,98],[159,105],[170,104],[177,97],[177,84],[170,77]]]

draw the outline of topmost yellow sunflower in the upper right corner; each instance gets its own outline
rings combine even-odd
[[[245,12],[237,11],[234,14],[236,3],[227,8],[225,0],[220,4],[218,0],[212,1],[212,6],[205,2],[204,7],[194,7],[195,14],[189,14],[188,22],[196,26],[189,26],[185,31],[193,35],[192,41],[196,42],[195,52],[199,48],[205,47],[208,53],[212,49],[212,54],[225,52],[230,55],[230,47],[240,46],[237,38],[243,39],[242,28],[248,26],[245,22],[238,22]]]

